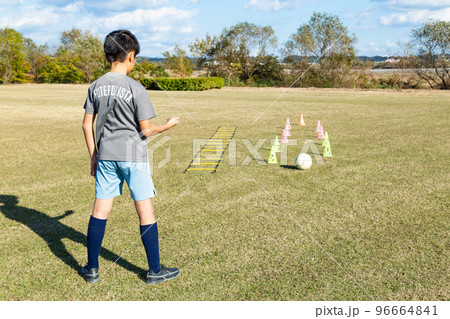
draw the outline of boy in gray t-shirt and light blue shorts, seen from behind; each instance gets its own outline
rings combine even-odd
[[[150,123],[156,116],[145,88],[127,75],[133,69],[140,46],[128,30],[111,32],[105,38],[105,57],[111,71],[91,84],[84,105],[83,131],[95,176],[95,202],[87,232],[88,264],[81,276],[99,280],[98,256],[106,220],[115,196],[122,194],[124,180],[130,188],[140,220],[149,271],[146,282],[156,284],[173,279],[180,271],[160,264],[158,228],[152,198],[156,195],[147,159],[146,138],[178,124],[170,117],[164,125]],[[96,141],[94,119],[97,117]]]

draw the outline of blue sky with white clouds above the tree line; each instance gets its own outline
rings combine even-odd
[[[272,26],[281,48],[314,11],[337,15],[358,38],[358,55],[395,55],[411,29],[430,18],[450,21],[450,0],[0,0],[0,27],[50,46],[72,27],[102,39],[125,28],[140,40],[141,55],[161,57],[244,21]]]

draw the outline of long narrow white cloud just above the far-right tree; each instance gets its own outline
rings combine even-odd
[[[450,7],[440,10],[408,10],[406,12],[393,13],[380,18],[381,24],[385,26],[417,25],[429,19],[450,20]]]

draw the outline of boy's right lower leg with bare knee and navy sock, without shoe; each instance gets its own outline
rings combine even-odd
[[[158,226],[155,220],[153,201],[150,198],[135,201],[134,204],[139,215],[141,238],[147,254],[149,268],[154,273],[158,273],[161,270],[161,264],[159,260]]]

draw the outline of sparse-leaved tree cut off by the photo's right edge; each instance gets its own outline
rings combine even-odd
[[[450,89],[450,22],[424,23],[422,27],[412,30],[411,38],[418,53],[413,62],[416,74],[431,88]]]

